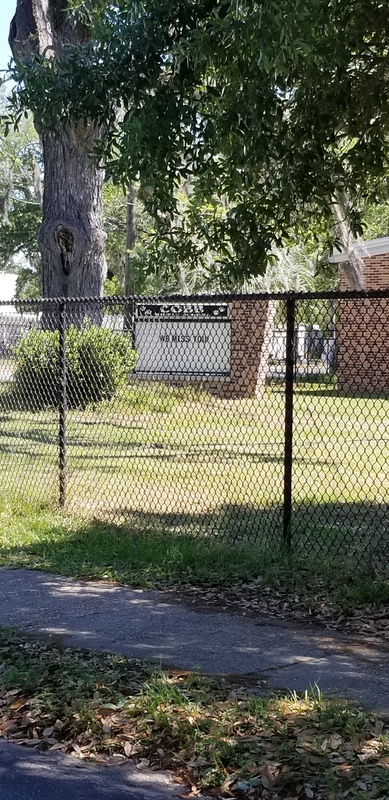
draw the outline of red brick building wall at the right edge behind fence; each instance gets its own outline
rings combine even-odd
[[[364,259],[365,289],[389,288],[389,253]],[[341,274],[340,289],[347,289]],[[389,298],[340,300],[338,388],[389,392]]]

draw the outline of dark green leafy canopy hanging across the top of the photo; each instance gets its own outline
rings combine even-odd
[[[388,4],[84,0],[76,16],[89,41],[18,64],[14,114],[102,126],[96,155],[146,187],[163,237],[194,179],[205,204],[226,200],[202,235],[227,283],[263,272],[291,232],[328,232],[338,192],[361,232],[388,167]]]

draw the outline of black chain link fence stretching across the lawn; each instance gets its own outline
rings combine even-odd
[[[389,291],[0,304],[0,492],[385,569]]]

